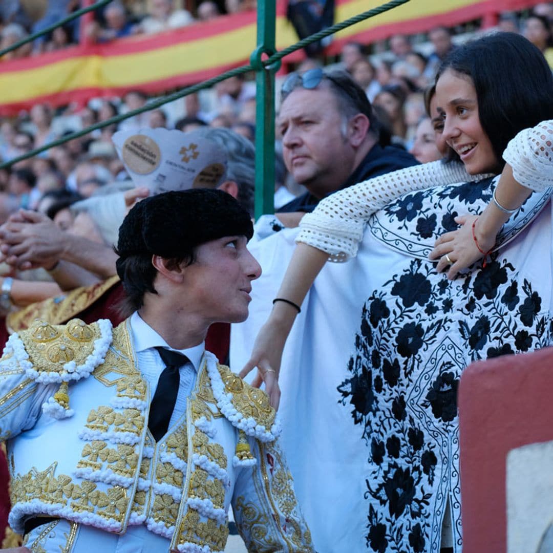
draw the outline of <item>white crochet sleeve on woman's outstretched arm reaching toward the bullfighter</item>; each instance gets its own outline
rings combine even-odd
[[[369,217],[407,192],[481,179],[462,163],[432,161],[359,182],[319,202],[300,223],[296,242],[328,253],[333,262],[354,257]]]

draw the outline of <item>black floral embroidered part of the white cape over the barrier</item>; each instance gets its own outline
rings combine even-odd
[[[364,304],[349,375],[337,387],[367,446],[370,551],[437,549],[447,501],[453,539],[461,546],[461,373],[478,359],[551,343],[541,290],[519,277],[508,259],[493,254],[485,268],[449,283],[434,264],[413,257],[411,236],[434,240],[456,228],[454,213],[478,213],[491,197],[490,185],[486,180],[406,195],[376,215],[377,226],[388,217],[388,234],[371,229],[410,257]]]

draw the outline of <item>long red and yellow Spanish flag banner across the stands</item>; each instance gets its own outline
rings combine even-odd
[[[348,40],[370,43],[393,33],[420,33],[436,25],[451,27],[529,7],[538,1],[410,0],[337,33],[328,46],[328,54],[338,53]],[[382,3],[383,0],[337,0],[335,20],[343,21]],[[278,50],[298,40],[285,14],[286,2],[278,0]],[[0,115],[15,114],[34,103],[84,103],[95,96],[119,96],[129,90],[158,94],[215,77],[248,63],[256,46],[255,19],[255,12],[228,15],[158,35],[77,45],[21,60],[0,60]],[[298,60],[302,55],[296,52],[284,61]]]

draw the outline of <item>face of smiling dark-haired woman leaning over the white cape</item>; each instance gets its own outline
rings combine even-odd
[[[444,138],[471,175],[499,173],[500,164],[478,116],[472,79],[447,69],[436,83],[437,111],[444,119]]]

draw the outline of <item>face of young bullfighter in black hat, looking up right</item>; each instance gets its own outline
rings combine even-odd
[[[247,319],[252,280],[259,278],[261,267],[246,243],[244,236],[226,236],[196,248],[183,282],[196,315],[211,322]]]

